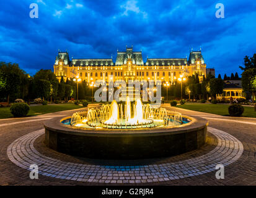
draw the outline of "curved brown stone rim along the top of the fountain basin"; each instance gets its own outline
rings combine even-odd
[[[166,136],[167,134],[187,133],[200,130],[208,126],[208,121],[196,116],[182,115],[183,118],[190,119],[190,123],[174,127],[144,128],[144,129],[83,129],[81,127],[69,126],[61,123],[64,118],[53,118],[44,123],[45,129],[63,134],[72,134],[73,136]]]

